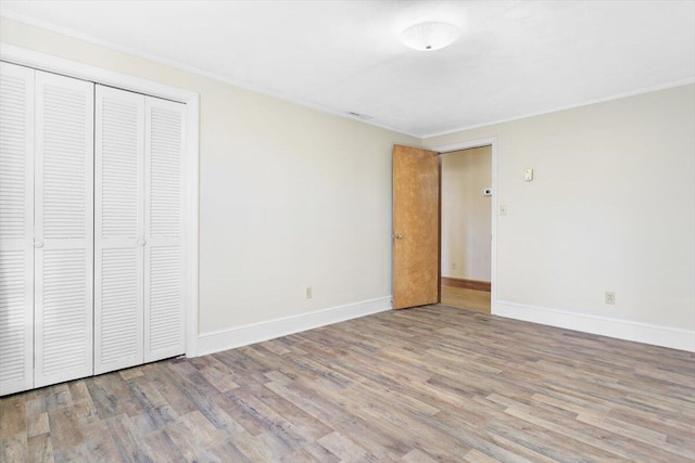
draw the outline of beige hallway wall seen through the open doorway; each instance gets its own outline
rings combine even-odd
[[[442,155],[442,276],[490,281],[492,149]]]

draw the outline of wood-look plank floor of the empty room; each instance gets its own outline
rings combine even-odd
[[[690,352],[429,306],[0,399],[0,461],[679,462]]]

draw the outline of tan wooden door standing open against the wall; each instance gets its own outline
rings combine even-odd
[[[393,146],[393,308],[439,301],[439,154]]]

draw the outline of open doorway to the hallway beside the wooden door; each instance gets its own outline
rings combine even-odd
[[[441,304],[491,312],[492,146],[441,155]]]

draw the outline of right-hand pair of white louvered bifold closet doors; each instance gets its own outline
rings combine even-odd
[[[97,86],[97,374],[185,352],[184,108]]]

